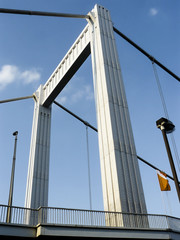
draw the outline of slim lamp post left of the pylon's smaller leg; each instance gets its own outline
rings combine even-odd
[[[11,222],[11,207],[12,207],[12,200],[13,200],[13,187],[14,187],[14,172],[15,172],[15,161],[16,161],[17,135],[18,135],[18,131],[13,133],[13,136],[15,136],[15,140],[14,140],[13,163],[12,163],[12,170],[11,170],[11,182],[10,182],[10,188],[9,188],[8,210],[7,210],[7,217],[6,217],[6,222],[7,223]]]

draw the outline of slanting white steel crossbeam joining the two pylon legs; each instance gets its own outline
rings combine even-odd
[[[43,105],[49,106],[90,54],[87,25],[43,87]]]

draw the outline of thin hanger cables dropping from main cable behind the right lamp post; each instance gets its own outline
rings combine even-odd
[[[161,83],[160,83],[160,80],[159,80],[158,72],[157,72],[156,66],[154,64],[154,61],[152,61],[152,66],[153,66],[153,71],[154,71],[156,83],[157,83],[157,86],[158,86],[159,95],[160,95],[160,98],[161,98],[161,103],[162,103],[162,106],[163,106],[164,114],[165,114],[166,118],[169,119],[169,114],[168,114],[165,98],[164,98],[164,95],[163,95]],[[173,150],[174,150],[174,153],[175,153],[176,163],[177,163],[178,169],[180,171],[180,158],[179,158],[179,154],[178,154],[178,151],[177,151],[176,141],[174,139],[174,134],[171,133],[170,136],[171,136],[171,142],[172,142]]]

